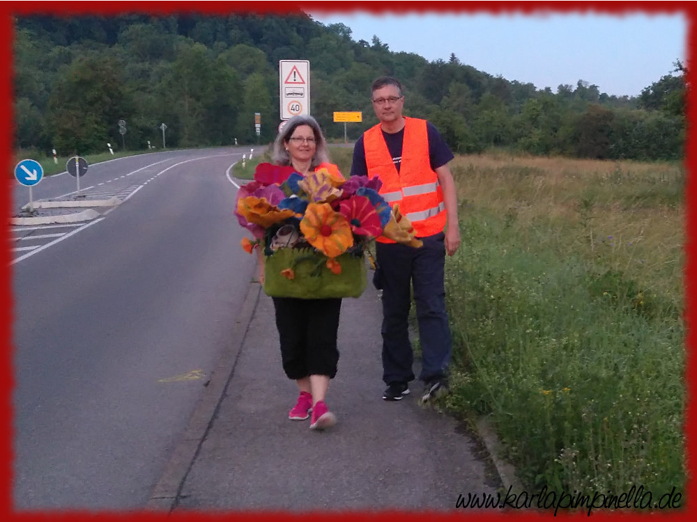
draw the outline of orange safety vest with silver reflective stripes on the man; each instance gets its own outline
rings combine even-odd
[[[416,237],[426,237],[443,232],[445,228],[447,214],[443,188],[429,163],[426,120],[404,119],[406,123],[399,172],[392,161],[379,123],[363,134],[365,164],[368,177],[378,176],[383,182],[380,195],[385,201],[391,207],[399,205],[399,212],[411,222]],[[385,236],[376,240],[394,243]]]

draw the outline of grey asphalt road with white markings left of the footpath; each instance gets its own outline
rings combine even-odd
[[[82,190],[124,202],[13,263],[15,509],[146,505],[253,276],[227,175],[248,152],[92,165]],[[47,177],[33,200],[75,190]]]

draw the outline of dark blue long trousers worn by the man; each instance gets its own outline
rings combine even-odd
[[[419,379],[445,377],[452,342],[445,310],[445,235],[420,238],[421,248],[376,243],[378,271],[374,283],[383,290],[383,381],[413,381],[413,349],[408,317],[411,286],[422,349]]]

